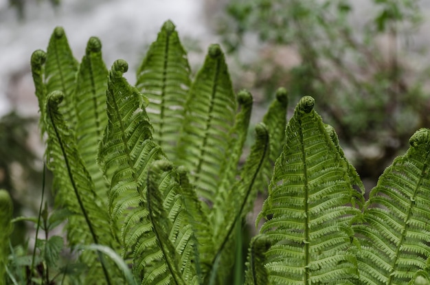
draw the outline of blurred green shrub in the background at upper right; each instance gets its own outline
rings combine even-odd
[[[357,25],[352,1],[232,0],[219,32],[229,52],[247,49],[249,35],[268,49],[293,51],[294,65],[282,65],[279,52],[244,65],[256,71],[254,93],[282,85],[293,100],[312,94],[345,144],[357,152],[363,141],[376,147],[372,161],[356,161],[362,176],[376,180],[407,137],[429,126],[430,96],[422,87],[427,74],[411,76],[400,60],[408,48],[400,40],[421,23],[417,1],[368,3],[372,13]]]

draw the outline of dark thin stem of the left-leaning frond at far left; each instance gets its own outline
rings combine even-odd
[[[54,122],[54,118],[53,118],[51,109],[49,109],[49,118],[51,119],[52,126],[54,127],[54,131],[55,131],[55,134],[56,134],[56,138],[58,139],[58,144],[60,146],[61,152],[63,153],[63,158],[64,158],[65,165],[66,165],[66,168],[67,168],[67,174],[69,175],[69,179],[70,179],[71,185],[73,187],[73,191],[75,192],[76,199],[78,200],[79,207],[80,207],[80,209],[82,211],[82,214],[84,216],[85,221],[87,222],[87,225],[89,227],[89,231],[90,231],[91,236],[92,236],[92,238],[94,240],[94,243],[98,244],[98,238],[95,235],[95,231],[93,229],[93,225],[91,224],[91,220],[89,220],[89,216],[87,214],[87,209],[84,208],[84,205],[82,203],[82,199],[80,198],[80,194],[78,192],[78,187],[77,187],[77,185],[75,183],[75,180],[73,179],[73,174],[71,173],[71,169],[70,169],[70,165],[69,165],[69,159],[68,159],[67,153],[65,151],[65,146],[63,145],[63,141],[61,140],[61,137],[60,137],[60,135],[58,133],[58,129],[57,129],[57,126],[56,126],[56,124]],[[104,257],[102,255],[102,253],[98,253],[98,256],[100,258],[100,263],[102,264],[102,270],[103,270],[103,273],[104,273],[104,277],[106,278],[106,282],[107,282],[108,285],[111,285],[111,280],[110,280],[110,277],[109,277],[109,273],[108,273],[108,271],[106,269],[106,266],[104,266]]]

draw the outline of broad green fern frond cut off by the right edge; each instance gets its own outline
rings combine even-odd
[[[430,130],[411,139],[365,203],[359,272],[363,284],[408,284],[430,256]]]

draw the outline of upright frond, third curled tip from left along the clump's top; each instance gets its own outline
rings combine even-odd
[[[95,191],[107,203],[106,181],[96,162],[98,143],[107,124],[106,87],[108,71],[102,60],[102,44],[89,39],[76,79],[76,139]]]

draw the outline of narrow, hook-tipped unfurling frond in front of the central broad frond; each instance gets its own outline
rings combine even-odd
[[[155,161],[152,163],[150,170],[148,171],[148,191],[147,201],[149,217],[152,223],[153,232],[157,238],[157,242],[161,251],[163,252],[163,258],[166,260],[166,265],[170,275],[172,275],[173,284],[185,285],[185,281],[181,275],[179,269],[179,256],[176,249],[174,249],[172,242],[168,237],[168,232],[172,229],[170,220],[163,208],[163,200],[159,194],[159,180],[161,179],[162,172],[172,170],[172,164],[168,161]]]

